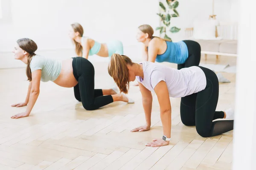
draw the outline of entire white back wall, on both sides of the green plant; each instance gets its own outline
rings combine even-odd
[[[84,35],[99,42],[122,40],[125,54],[140,58],[140,43],[136,29],[141,24],[159,26],[158,0],[1,0],[11,11],[5,22],[0,20],[0,68],[24,66],[14,61],[11,53],[18,38],[29,37],[38,44],[39,54],[50,57],[73,57],[73,45],[68,37],[70,23],[79,22]],[[165,0],[163,0],[165,1]],[[172,26],[182,30],[171,34],[173,41],[184,40],[184,29],[193,26],[196,18],[212,14],[212,0],[179,0],[180,17]],[[7,4],[7,5],[6,5]],[[9,5],[8,5],[9,4]],[[9,6],[5,8],[6,6]],[[237,21],[237,0],[215,0],[215,14],[222,21]],[[9,22],[8,22],[9,21]],[[159,31],[155,31],[159,35]],[[65,49],[65,52],[61,49]],[[67,52],[69,49],[69,52]],[[49,52],[55,50],[55,53]],[[70,56],[71,55],[71,56]],[[89,57],[104,61],[102,57]]]

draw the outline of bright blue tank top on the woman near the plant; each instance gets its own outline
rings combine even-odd
[[[186,59],[189,57],[189,51],[185,42],[166,41],[166,44],[166,51],[163,54],[157,54],[156,62],[171,62],[176,64],[186,62]]]

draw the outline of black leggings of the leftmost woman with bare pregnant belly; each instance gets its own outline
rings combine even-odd
[[[94,67],[83,57],[73,57],[73,74],[78,84],[74,94],[86,110],[92,111],[113,102],[111,95],[103,96],[102,89],[94,89]]]

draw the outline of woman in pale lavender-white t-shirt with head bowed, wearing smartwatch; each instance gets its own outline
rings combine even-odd
[[[180,117],[184,125],[195,126],[203,137],[220,135],[233,130],[233,110],[215,111],[219,85],[216,74],[208,68],[192,66],[180,70],[153,62],[134,63],[124,55],[113,54],[108,65],[121,92],[127,93],[129,82],[139,82],[145,111],[146,125],[132,132],[149,130],[151,126],[152,95],[154,91],[160,104],[163,124],[162,139],[154,139],[147,146],[169,144],[171,138],[171,102],[169,97],[181,97]],[[231,119],[218,120],[215,119]]]

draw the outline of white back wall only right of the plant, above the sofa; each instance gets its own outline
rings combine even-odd
[[[165,4],[166,0],[161,0]],[[223,22],[238,21],[238,0],[214,0],[214,14]],[[180,17],[171,19],[171,26],[181,28],[178,33],[169,33],[173,41],[186,39],[184,29],[193,27],[195,19],[208,19],[212,15],[212,0],[179,0],[177,11]]]

